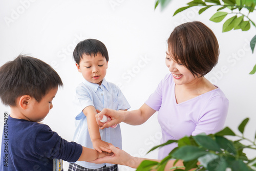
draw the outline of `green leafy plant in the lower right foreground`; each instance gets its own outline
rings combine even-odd
[[[231,3],[231,1],[229,2]],[[174,166],[170,169],[178,170],[209,170],[209,171],[225,171],[226,168],[232,171],[252,171],[256,170],[256,157],[248,159],[243,153],[245,148],[256,151],[256,135],[254,141],[244,137],[244,129],[249,118],[246,118],[238,126],[238,130],[242,135],[236,135],[229,127],[225,127],[216,134],[199,134],[196,136],[185,136],[179,140],[169,140],[164,144],[158,145],[151,149],[154,150],[160,146],[171,143],[178,143],[178,147],[174,148],[161,162],[143,161],[137,168],[138,171],[144,170],[164,170],[166,163],[170,159],[183,160],[184,166]],[[229,140],[226,136],[233,136],[237,140]],[[241,142],[246,141],[246,145]],[[248,145],[249,144],[249,145]]]

